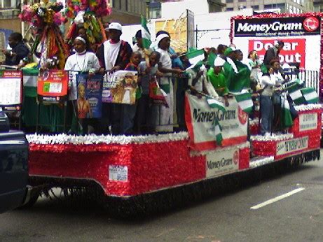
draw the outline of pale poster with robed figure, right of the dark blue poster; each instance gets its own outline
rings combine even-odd
[[[102,102],[130,104],[136,102],[137,71],[107,73],[103,80]]]

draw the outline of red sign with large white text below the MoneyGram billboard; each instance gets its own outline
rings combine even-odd
[[[300,68],[305,68],[305,39],[283,38],[284,48],[280,51],[280,63],[299,63]],[[263,60],[266,50],[273,47],[275,39],[249,40],[249,52],[256,50],[259,59]]]

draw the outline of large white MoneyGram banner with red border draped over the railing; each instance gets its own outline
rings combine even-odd
[[[237,145],[247,141],[247,113],[243,112],[235,99],[229,99],[226,112],[210,108],[205,98],[186,94],[185,118],[193,150],[217,148],[214,120],[222,129],[221,146]]]

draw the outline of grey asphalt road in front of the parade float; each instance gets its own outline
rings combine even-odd
[[[0,215],[0,241],[323,241],[323,163],[146,220],[41,199]]]

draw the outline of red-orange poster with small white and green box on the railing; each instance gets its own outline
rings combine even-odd
[[[39,101],[58,103],[67,100],[69,74],[62,70],[46,70],[39,73],[37,94]]]

